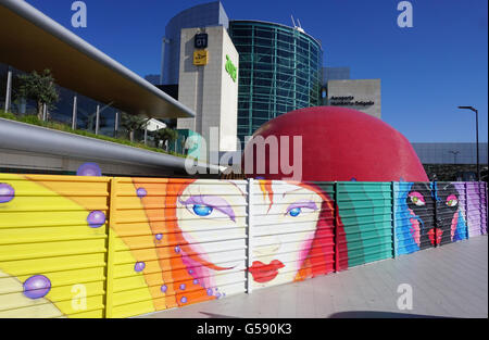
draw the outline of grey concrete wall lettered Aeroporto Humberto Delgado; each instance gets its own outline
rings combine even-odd
[[[380,79],[329,80],[327,104],[359,110],[381,118]]]

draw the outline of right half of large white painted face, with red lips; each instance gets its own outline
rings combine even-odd
[[[314,239],[323,199],[304,187],[283,181],[262,184],[261,191],[249,268],[253,286],[293,281]]]

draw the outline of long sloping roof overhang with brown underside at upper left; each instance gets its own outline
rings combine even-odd
[[[58,85],[129,114],[196,115],[25,1],[1,1],[0,41],[0,62],[26,72],[50,68]]]

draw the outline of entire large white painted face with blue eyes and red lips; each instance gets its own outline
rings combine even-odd
[[[233,182],[223,182],[221,194],[205,192],[204,181],[196,180],[177,202],[178,225],[189,252],[197,252],[209,265],[208,285],[220,286],[220,276],[241,269],[240,262],[227,262],[213,252],[214,242],[206,242],[205,230],[217,230],[223,239],[233,239],[234,228],[246,225],[246,193]],[[286,182],[260,184],[254,196],[254,247],[249,273],[259,287],[292,281],[305,260],[316,230],[322,198],[306,188]],[[278,232],[280,228],[284,234]],[[185,256],[185,254],[183,254]],[[187,261],[190,263],[190,261]],[[200,276],[200,275],[199,275]]]

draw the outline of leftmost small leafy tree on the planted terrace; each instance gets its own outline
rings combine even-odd
[[[37,117],[42,119],[42,106],[53,108],[60,100],[51,71],[46,68],[42,73],[33,71],[18,76],[21,83],[17,98],[32,99],[37,103]]]

